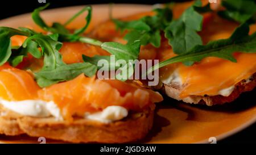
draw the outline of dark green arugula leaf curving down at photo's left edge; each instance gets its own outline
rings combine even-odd
[[[10,27],[0,27],[0,65],[5,64],[11,56],[11,36],[29,36],[29,33]]]

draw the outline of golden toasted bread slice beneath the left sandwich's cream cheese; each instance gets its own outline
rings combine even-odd
[[[154,108],[130,112],[127,118],[105,124],[75,118],[73,122],[55,118],[22,116],[0,107],[0,134],[9,136],[26,133],[32,137],[63,140],[71,143],[128,143],[142,139],[150,131]]]

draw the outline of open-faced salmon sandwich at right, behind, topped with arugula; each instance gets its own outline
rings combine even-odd
[[[171,98],[208,106],[232,102],[256,86],[255,1],[202,2],[113,19],[93,35],[120,43],[141,40],[139,58],[160,61],[155,88]]]

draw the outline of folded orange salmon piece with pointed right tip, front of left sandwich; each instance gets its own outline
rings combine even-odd
[[[108,106],[122,106],[127,110],[141,111],[153,102],[163,100],[159,93],[145,90],[117,80],[100,80],[79,77],[58,83],[39,91],[39,98],[53,100],[65,119],[85,112],[100,111]]]

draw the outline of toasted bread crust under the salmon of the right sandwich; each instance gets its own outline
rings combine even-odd
[[[163,91],[168,95],[168,97],[183,100],[183,102],[191,103],[191,104],[207,104],[207,106],[213,106],[216,104],[224,104],[232,102],[233,100],[237,99],[241,93],[246,91],[251,91],[256,87],[256,73],[253,74],[250,78],[250,82],[246,82],[242,80],[237,83],[234,90],[228,97],[224,97],[222,95],[215,95],[215,96],[197,96],[191,95],[187,98],[180,98],[179,94],[181,92],[181,86],[171,84],[171,85],[163,85]]]

